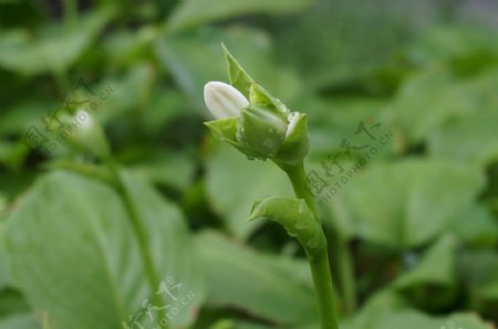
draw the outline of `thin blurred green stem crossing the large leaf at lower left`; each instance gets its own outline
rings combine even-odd
[[[145,275],[147,277],[148,286],[151,289],[151,303],[153,305],[159,306],[165,305],[165,300],[163,300],[160,295],[156,295],[155,291],[159,288],[159,276],[157,274],[156,267],[154,265],[153,257],[149,253],[149,250],[147,247],[147,234],[145,232],[144,226],[142,225],[141,216],[138,214],[138,211],[133,202],[133,198],[129,194],[129,190],[126,188],[126,184],[120,174],[120,169],[117,164],[114,162],[113,159],[107,158],[106,163],[114,176],[114,180],[117,187],[117,190],[124,201],[125,208],[127,213],[129,214],[131,223],[134,229],[134,232],[136,233],[137,242],[138,242],[138,248],[142,255],[142,261],[144,263],[145,268]],[[160,311],[160,319],[158,320],[158,323],[162,319],[167,320],[167,314],[166,310]],[[162,328],[168,328],[167,323],[160,323]]]

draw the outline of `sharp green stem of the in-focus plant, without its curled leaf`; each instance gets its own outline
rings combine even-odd
[[[298,198],[304,199],[314,216],[319,219],[317,201],[311,193],[304,163],[301,161],[297,164],[288,164],[276,162],[289,177],[294,193]],[[332,273],[329,264],[329,252],[326,244],[323,251],[312,257],[308,257],[310,268],[313,276],[313,285],[317,294],[319,306],[320,323],[322,329],[339,329],[338,306],[335,303],[335,293],[332,280]]]

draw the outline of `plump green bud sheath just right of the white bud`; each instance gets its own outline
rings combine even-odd
[[[240,113],[237,139],[262,158],[274,158],[286,132],[287,120],[269,108],[250,105]]]

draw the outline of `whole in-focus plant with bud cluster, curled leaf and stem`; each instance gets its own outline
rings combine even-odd
[[[206,126],[248,159],[272,160],[290,179],[298,199],[273,197],[255,202],[249,220],[280,223],[304,248],[315,287],[322,329],[338,329],[328,243],[307,181],[307,116],[289,108],[257,84],[224,46],[230,84],[210,82],[206,105],[217,118]]]

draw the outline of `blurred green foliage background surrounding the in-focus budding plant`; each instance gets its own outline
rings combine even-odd
[[[168,285],[170,328],[317,328],[297,242],[245,221],[291,187],[203,125],[221,42],[308,114],[334,273],[340,242],[353,265],[343,328],[494,328],[497,17],[494,1],[0,0],[0,328],[153,328],[144,300]],[[376,141],[359,134],[374,124]],[[370,146],[350,158],[344,141]]]

